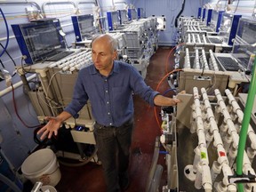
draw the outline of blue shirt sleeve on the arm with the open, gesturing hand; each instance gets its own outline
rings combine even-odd
[[[67,111],[74,117],[78,116],[77,113],[84,107],[88,100],[88,95],[84,89],[83,81],[84,78],[82,72],[79,71],[76,79],[72,100],[64,109],[64,111]]]

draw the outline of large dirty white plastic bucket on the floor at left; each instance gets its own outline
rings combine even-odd
[[[21,165],[21,172],[33,184],[41,181],[43,185],[56,186],[61,178],[59,163],[50,148],[37,150],[28,156]]]

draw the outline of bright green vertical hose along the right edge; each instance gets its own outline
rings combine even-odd
[[[256,94],[255,66],[256,66],[256,60],[254,60],[254,63],[253,63],[252,78],[251,78],[251,83],[249,86],[247,101],[245,104],[242,128],[241,128],[241,132],[239,135],[240,138],[239,138],[238,152],[237,152],[237,157],[236,157],[236,174],[237,174],[237,176],[241,176],[243,174],[244,148],[245,148],[245,143],[246,143],[246,138],[247,138],[248,126],[249,126],[250,120],[251,120],[253,102],[254,102],[254,98],[255,98],[255,94]],[[243,184],[241,184],[241,183],[238,184],[238,191],[239,192],[244,191]]]

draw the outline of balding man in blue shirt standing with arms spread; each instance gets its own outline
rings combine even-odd
[[[92,40],[93,65],[79,71],[71,103],[59,116],[46,117],[48,124],[38,132],[43,133],[41,139],[47,134],[48,138],[52,133],[57,135],[60,125],[91,100],[92,115],[96,120],[94,136],[108,192],[129,186],[132,93],[139,94],[152,106],[173,106],[180,102],[153,91],[136,68],[117,61],[116,56],[116,40],[108,35],[96,36]]]

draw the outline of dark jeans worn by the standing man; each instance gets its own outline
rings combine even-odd
[[[132,128],[133,119],[120,127],[103,126],[97,123],[94,125],[96,147],[108,192],[120,191],[119,177],[124,175],[127,177]]]

